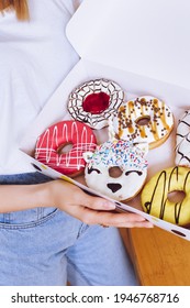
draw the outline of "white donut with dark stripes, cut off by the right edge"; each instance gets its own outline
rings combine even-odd
[[[177,127],[176,165],[190,167],[190,110],[185,112]]]

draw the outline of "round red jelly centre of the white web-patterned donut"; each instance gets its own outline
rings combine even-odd
[[[110,96],[105,92],[88,95],[82,101],[82,108],[86,112],[99,114],[109,108]]]

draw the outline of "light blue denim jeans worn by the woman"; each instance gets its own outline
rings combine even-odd
[[[0,176],[1,185],[47,180],[40,173]],[[0,213],[0,285],[67,282],[75,286],[137,284],[118,229],[87,226],[56,208]]]

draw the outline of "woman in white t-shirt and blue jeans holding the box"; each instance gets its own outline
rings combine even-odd
[[[0,285],[137,284],[115,227],[150,223],[35,173],[19,151],[25,129],[78,61],[65,36],[78,4],[0,0]]]

